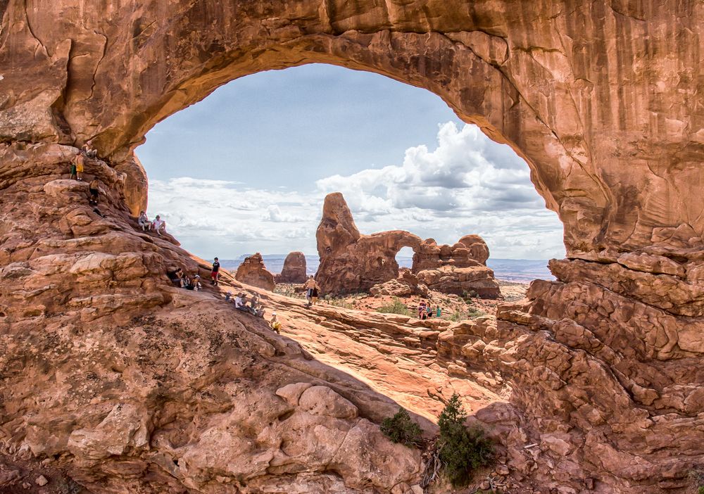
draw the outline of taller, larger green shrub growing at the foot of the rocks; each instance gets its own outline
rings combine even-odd
[[[466,486],[472,480],[474,470],[486,467],[494,458],[494,442],[477,426],[467,429],[466,418],[460,396],[456,393],[438,418],[438,457],[453,487]]]

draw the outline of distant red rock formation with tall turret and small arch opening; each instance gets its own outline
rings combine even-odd
[[[417,293],[417,284],[412,286],[417,279],[417,283],[442,293],[501,296],[494,272],[486,267],[489,248],[478,235],[463,236],[453,246],[439,246],[433,239],[423,241],[403,230],[363,235],[344,196],[335,192],[325,197],[315,236],[320,256],[316,279],[323,293],[370,291],[372,286],[392,280],[397,281],[394,286],[379,286],[375,291]],[[413,249],[414,277],[406,273],[399,276],[396,254],[403,247]]]

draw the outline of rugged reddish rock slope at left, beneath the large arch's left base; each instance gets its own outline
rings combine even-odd
[[[0,490],[41,461],[94,493],[411,494],[420,452],[376,425],[397,405],[209,284],[172,286],[209,265],[142,232],[100,160],[94,213],[72,153],[0,144]]]

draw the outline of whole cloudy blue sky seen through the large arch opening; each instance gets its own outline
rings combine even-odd
[[[508,146],[429,91],[369,72],[305,65],[234,80],[156,125],[137,156],[149,215],[205,258],[315,253],[333,191],[366,234],[477,233],[494,258],[565,254],[562,224]]]

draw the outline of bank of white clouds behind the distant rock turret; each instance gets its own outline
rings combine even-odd
[[[441,243],[479,234],[494,258],[565,253],[562,224],[535,191],[528,165],[477,127],[452,122],[439,126],[434,150],[408,148],[398,165],[331,175],[313,191],[191,177],[153,180],[149,212],[161,214],[184,248],[203,257],[315,253],[322,201],[334,191],[344,194],[365,234],[405,229]]]

